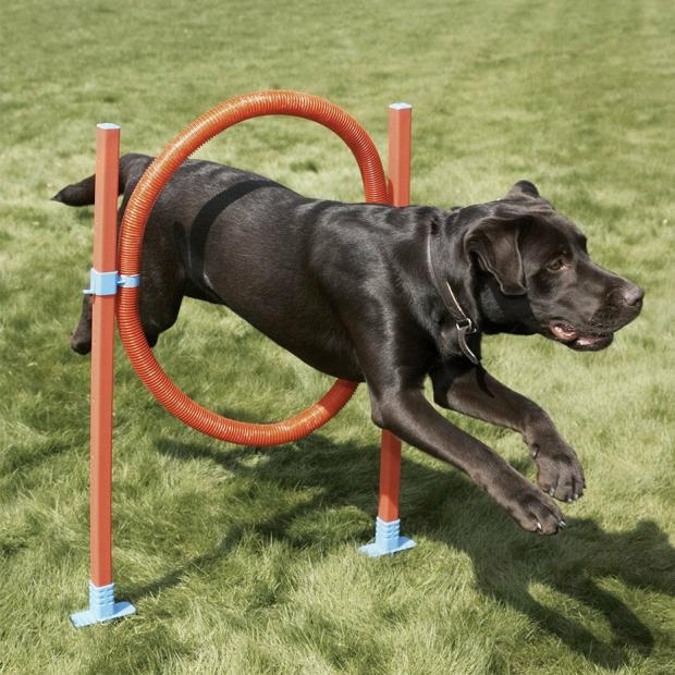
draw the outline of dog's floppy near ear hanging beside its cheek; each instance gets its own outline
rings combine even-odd
[[[504,295],[527,293],[518,234],[519,228],[513,221],[484,218],[464,240],[467,258],[475,255],[480,267],[496,279]]]

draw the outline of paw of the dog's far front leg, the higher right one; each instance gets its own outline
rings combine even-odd
[[[574,502],[584,494],[584,469],[576,453],[562,440],[536,445],[537,482],[551,496]]]

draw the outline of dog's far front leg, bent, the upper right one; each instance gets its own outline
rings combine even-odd
[[[438,405],[523,434],[544,492],[567,502],[581,496],[585,479],[577,455],[536,403],[464,359],[445,363],[430,375]]]

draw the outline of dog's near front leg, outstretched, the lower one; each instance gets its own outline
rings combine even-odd
[[[450,424],[419,386],[378,388],[369,380],[375,422],[410,445],[462,469],[524,529],[554,535],[563,514],[537,486],[487,445]]]

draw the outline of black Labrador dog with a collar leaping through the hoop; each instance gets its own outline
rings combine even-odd
[[[151,158],[122,158],[123,211]],[[94,202],[94,176],[56,197]],[[366,381],[372,419],[468,474],[525,529],[564,527],[584,472],[549,416],[480,365],[483,333],[540,333],[602,349],[643,291],[594,265],[586,237],[527,181],[452,211],[307,199],[253,173],[187,161],[150,216],[140,317],[148,342],[183,296],[223,304],[305,363]],[[71,346],[90,348],[86,297]],[[520,432],[539,488],[425,398]]]

